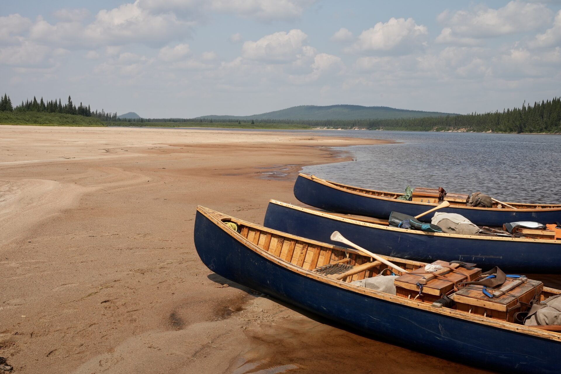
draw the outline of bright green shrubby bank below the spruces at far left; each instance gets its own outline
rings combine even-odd
[[[0,111],[3,125],[104,126],[98,118],[64,113]]]

